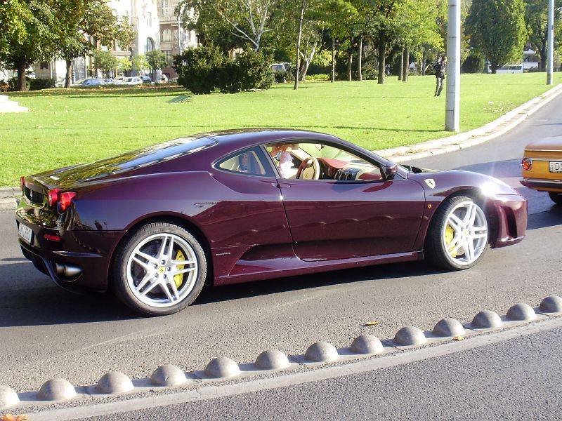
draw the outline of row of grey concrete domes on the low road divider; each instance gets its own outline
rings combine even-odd
[[[562,298],[550,295],[544,298],[539,307],[530,307],[523,302],[513,305],[504,316],[484,310],[476,314],[472,321],[460,323],[447,317],[438,321],[433,328],[423,332],[414,326],[405,326],[398,330],[394,338],[379,338],[362,334],[355,338],[351,347],[336,349],[328,342],[315,342],[306,349],[305,354],[287,356],[278,349],[264,351],[254,363],[236,363],[226,356],[212,359],[204,370],[185,373],[177,366],[159,366],[150,378],[131,380],[129,376],[117,371],[105,373],[97,385],[74,387],[65,379],[51,379],[44,382],[39,391],[16,393],[8,386],[0,385],[0,410],[8,408],[30,408],[41,411],[53,403],[78,403],[89,401],[99,403],[110,396],[154,393],[156,390],[171,390],[192,387],[191,393],[202,395],[202,390],[216,393],[211,385],[229,380],[259,375],[281,373],[283,370],[296,368],[326,368],[338,363],[356,363],[360,359],[372,361],[391,356],[397,358],[402,351],[420,352],[423,345],[445,345],[471,339],[482,333],[497,333],[518,326],[525,326],[532,321],[547,321],[562,315]],[[193,390],[195,389],[195,390]],[[121,402],[120,405],[123,403]],[[72,418],[73,419],[73,418]]]

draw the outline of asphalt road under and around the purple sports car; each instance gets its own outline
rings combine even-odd
[[[195,370],[216,356],[303,354],[318,340],[346,347],[360,333],[392,338],[402,326],[431,330],[446,316],[469,321],[482,309],[504,314],[516,302],[561,295],[562,208],[517,182],[523,146],[558,135],[560,109],[562,97],[502,138],[419,162],[489,173],[530,199],[527,239],[488,250],[464,272],[411,263],[277,279],[209,289],[179,314],[139,318],[111,295],[53,286],[22,258],[12,213],[0,212],[0,383],[25,392],[51,377],[88,385],[110,370],[148,377],[163,363]],[[362,327],[373,320],[379,326]]]

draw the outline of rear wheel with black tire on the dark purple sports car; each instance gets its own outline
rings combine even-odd
[[[160,237],[164,238],[160,239]],[[171,250],[169,246],[171,243],[170,239],[174,239],[174,246],[172,246]],[[194,263],[174,265],[174,263],[171,263],[171,260],[167,260],[167,257],[164,257],[167,260],[166,264],[162,263],[164,260],[162,262],[152,262],[152,260],[145,259],[145,261],[141,260],[139,262],[138,257],[141,255],[138,253],[143,253],[143,255],[156,260],[158,253],[152,253],[149,250],[158,249],[159,251],[166,248],[168,250],[166,256],[169,255],[170,259],[178,259],[178,256],[180,256],[178,250],[182,250],[182,256],[184,253],[186,256],[189,255],[190,261]],[[174,250],[176,253],[175,257]],[[131,256],[133,253],[135,253],[136,260],[133,260]],[[143,258],[141,257],[141,259]],[[188,260],[186,259],[186,262]],[[141,266],[141,263],[143,266]],[[150,266],[150,269],[145,269],[145,266]],[[190,270],[193,272],[192,274],[191,272],[183,272],[186,266],[188,266],[186,270]],[[195,269],[190,269],[191,266]],[[164,272],[160,272],[161,269]],[[172,272],[165,272],[166,269],[168,271],[172,270]],[[141,287],[142,289],[139,288],[135,292],[133,286],[138,287],[145,278],[150,278],[149,270],[154,273],[155,277],[146,283],[146,287]],[[180,270],[182,274],[174,275],[174,270]],[[185,278],[186,274],[187,278]],[[157,279],[158,276],[160,276],[160,279]],[[179,286],[176,282],[176,276],[181,276]],[[139,279],[141,277],[143,280]],[[117,298],[135,312],[149,316],[162,316],[179,312],[195,301],[204,286],[206,277],[207,258],[195,236],[179,225],[169,222],[152,222],[134,229],[117,248],[112,267],[111,286]],[[159,285],[159,282],[162,285]],[[155,285],[152,286],[152,283]],[[164,283],[166,286],[164,286]],[[175,287],[172,283],[174,283]],[[164,292],[164,288],[167,289],[167,293]],[[174,289],[178,295],[174,295]],[[144,293],[144,290],[149,290],[149,292]],[[176,302],[174,302],[174,299]]]

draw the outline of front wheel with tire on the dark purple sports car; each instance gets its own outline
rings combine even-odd
[[[468,269],[488,249],[488,220],[468,196],[446,199],[434,215],[426,238],[426,257],[445,269]]]

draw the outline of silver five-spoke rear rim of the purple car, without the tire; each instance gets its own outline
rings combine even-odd
[[[192,291],[198,274],[195,251],[176,234],[148,236],[127,259],[127,284],[137,300],[151,307],[181,302]],[[181,283],[176,285],[176,280]]]

